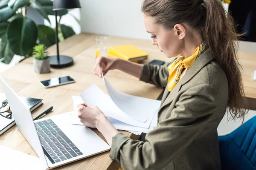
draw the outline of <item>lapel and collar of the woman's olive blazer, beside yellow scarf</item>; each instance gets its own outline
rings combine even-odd
[[[187,70],[186,74],[180,79],[180,81],[175,85],[171,92],[169,92],[168,88],[166,87],[163,94],[159,113],[163,107],[169,105],[173,101],[173,99],[177,96],[177,93],[180,91],[182,85],[186,84],[187,82],[189,82],[189,80],[195,77],[195,75],[202,68],[204,68],[204,66],[207,65],[207,63],[210,62],[212,59],[214,59],[214,56],[212,52],[208,49],[203,54],[201,54],[198,59],[195,60],[195,62],[191,65],[191,67]]]

